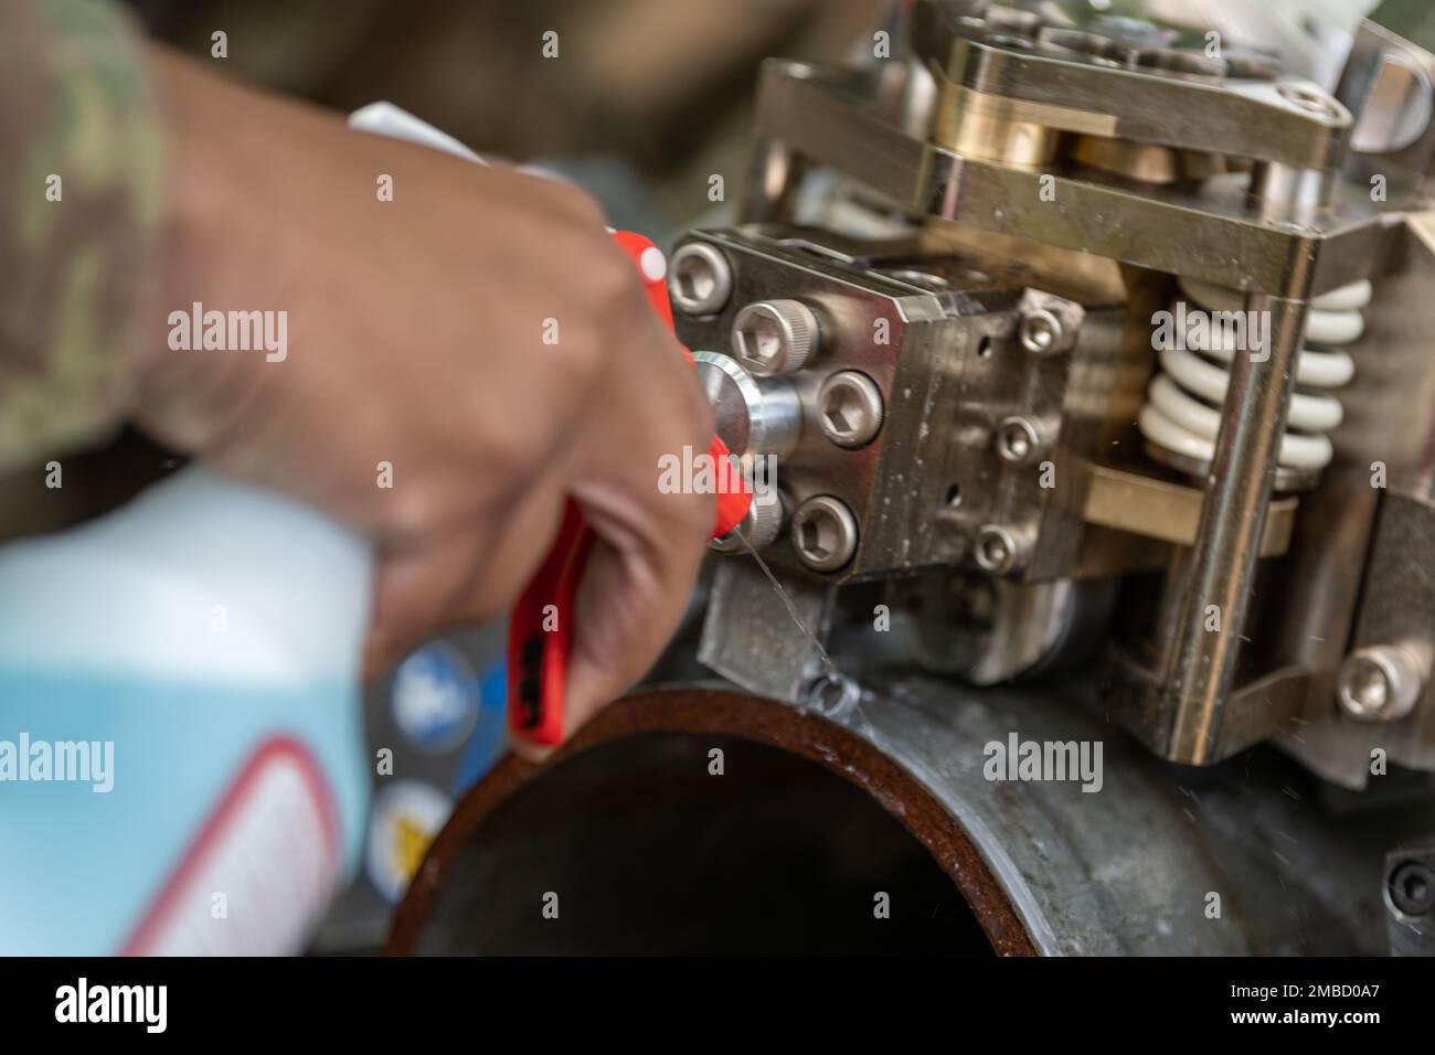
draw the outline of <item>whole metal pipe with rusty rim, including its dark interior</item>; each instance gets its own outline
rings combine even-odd
[[[1313,778],[1271,749],[1175,775],[1088,690],[1071,677],[980,690],[903,677],[831,718],[725,688],[640,692],[542,766],[508,758],[465,794],[389,952],[851,949],[838,939],[852,907],[895,891],[914,864],[900,840],[868,840],[877,825],[854,841],[855,812],[832,812],[852,787],[954,887],[956,901],[924,887],[920,906],[894,893],[893,920],[916,913],[923,947],[943,923],[936,904],[944,917],[964,901],[1000,955],[1385,952],[1373,863],[1435,828],[1435,807],[1352,828],[1314,808]],[[1032,745],[1095,759],[1092,779],[1023,778],[1015,749]],[[806,886],[812,851],[831,873]],[[839,903],[822,893],[834,884]],[[540,913],[545,891],[561,899],[554,919]]]

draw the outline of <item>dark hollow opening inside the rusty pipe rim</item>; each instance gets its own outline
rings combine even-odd
[[[413,952],[992,955],[875,800],[733,736],[643,732],[563,759],[479,818],[442,874]]]

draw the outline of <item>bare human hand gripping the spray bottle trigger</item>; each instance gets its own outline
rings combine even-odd
[[[283,310],[287,349],[174,350],[164,319],[141,423],[372,535],[370,673],[499,614],[571,495],[598,535],[560,613],[575,728],[656,657],[712,528],[710,495],[657,487],[662,455],[706,449],[710,411],[597,207],[154,67],[174,155],[161,316]]]

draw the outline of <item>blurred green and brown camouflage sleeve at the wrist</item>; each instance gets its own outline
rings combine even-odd
[[[102,0],[0,0],[0,469],[129,398],[164,211],[139,34]]]

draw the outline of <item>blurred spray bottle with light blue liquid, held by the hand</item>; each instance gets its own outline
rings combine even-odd
[[[481,162],[387,103],[350,123]],[[201,466],[0,545],[0,955],[303,947],[366,830],[370,576]]]

